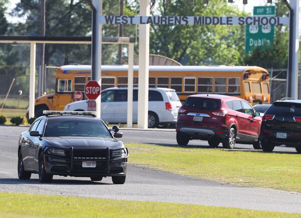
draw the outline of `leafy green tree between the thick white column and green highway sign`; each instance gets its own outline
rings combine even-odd
[[[243,16],[226,0],[202,0],[160,3],[159,16]],[[221,25],[152,25],[150,51],[173,58],[187,65],[242,64],[243,33],[239,26]]]

